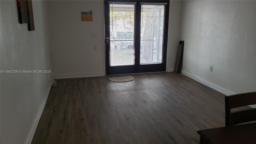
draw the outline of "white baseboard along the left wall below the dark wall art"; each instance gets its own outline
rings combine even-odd
[[[51,81],[51,82],[52,82],[52,81]],[[50,83],[50,84],[48,85],[47,89],[46,89],[46,92],[45,92],[45,95],[44,95],[44,99],[43,99],[43,101],[42,101],[42,103],[41,103],[41,105],[40,105],[40,107],[39,107],[39,110],[38,110],[38,112],[37,112],[37,114],[36,114],[36,118],[34,119],[34,122],[33,122],[33,124],[32,124],[32,127],[31,127],[31,129],[30,129],[30,132],[29,132],[29,134],[28,134],[28,138],[27,138],[25,144],[31,144],[31,142],[32,142],[33,136],[34,136],[34,134],[35,134],[35,132],[36,132],[36,127],[37,127],[38,122],[39,122],[39,120],[40,120],[40,118],[41,118],[41,116],[42,116],[42,113],[43,113],[43,110],[44,110],[44,106],[45,106],[45,104],[46,104],[48,95],[49,95],[49,93],[50,93],[51,86],[52,86],[52,83]]]

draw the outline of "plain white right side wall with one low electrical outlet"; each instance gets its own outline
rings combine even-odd
[[[256,1],[183,1],[182,73],[226,95],[256,91],[255,14]]]

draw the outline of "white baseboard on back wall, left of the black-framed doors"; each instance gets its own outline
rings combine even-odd
[[[54,79],[63,79],[63,78],[85,78],[85,77],[95,77],[95,76],[104,76],[103,72],[95,73],[77,73],[77,74],[56,74]]]

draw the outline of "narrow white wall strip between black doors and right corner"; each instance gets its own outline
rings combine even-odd
[[[167,44],[167,58],[166,71],[173,72],[176,54],[180,43],[180,21],[182,1],[171,0],[169,9],[169,26],[168,26],[168,44]],[[170,57],[170,59],[169,59]]]

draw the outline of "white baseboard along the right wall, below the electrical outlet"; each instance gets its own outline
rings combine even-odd
[[[185,76],[188,76],[189,78],[192,78],[193,80],[196,80],[198,82],[200,82],[201,84],[204,84],[214,90],[217,90],[218,92],[221,92],[222,94],[225,94],[226,96],[229,96],[229,95],[232,95],[232,94],[235,94],[234,92],[231,92],[229,90],[226,90],[225,88],[222,88],[220,86],[217,86],[215,84],[212,84],[211,82],[208,82],[202,78],[199,78],[197,76],[194,76],[193,74],[190,74],[184,70],[181,71],[181,74],[184,74]]]

